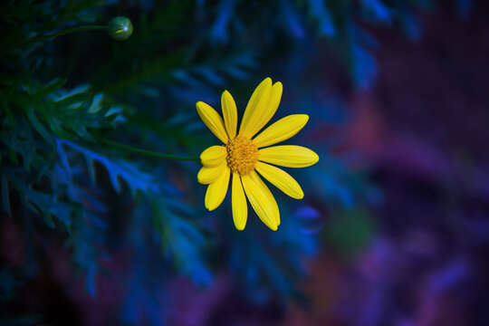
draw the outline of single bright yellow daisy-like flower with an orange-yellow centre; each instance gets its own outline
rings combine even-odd
[[[233,220],[238,230],[245,229],[246,225],[246,197],[265,225],[273,231],[280,225],[277,202],[256,171],[286,195],[302,199],[304,193],[297,181],[283,169],[273,165],[305,168],[319,160],[316,153],[302,146],[269,147],[297,134],[309,120],[306,114],[287,116],[254,137],[272,119],[281,97],[282,83],[272,84],[270,78],[265,78],[256,87],[246,106],[237,135],[236,104],[228,91],[224,91],[221,97],[224,121],[211,106],[202,101],[196,104],[200,119],[225,144],[211,146],[200,155],[203,167],[198,171],[197,180],[203,185],[209,185],[206,191],[206,208],[212,211],[221,205],[227,192],[229,177],[232,175],[231,204]]]

